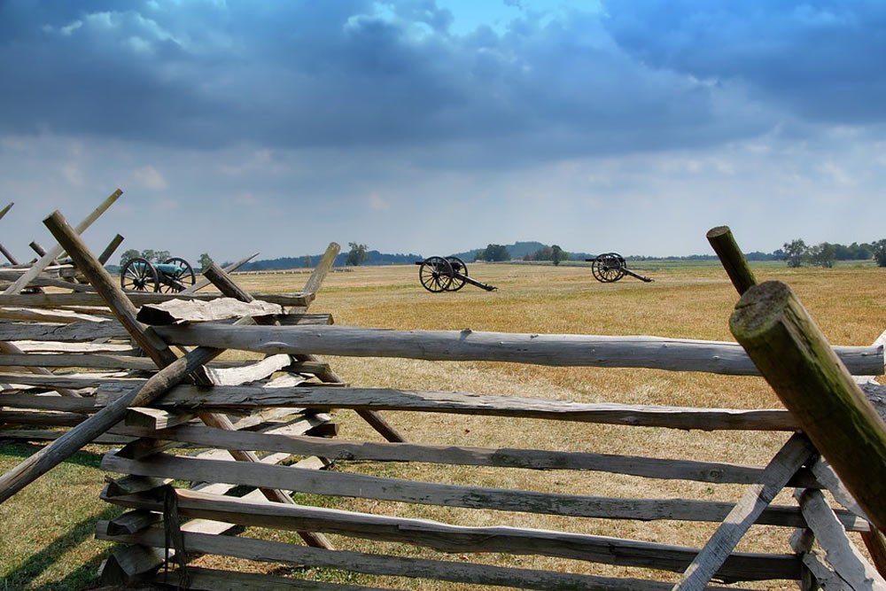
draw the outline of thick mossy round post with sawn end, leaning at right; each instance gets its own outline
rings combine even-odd
[[[886,424],[786,284],[751,287],[729,327],[781,402],[880,530]]]

